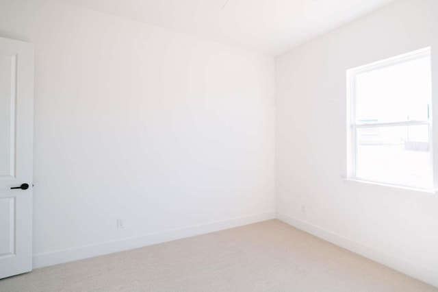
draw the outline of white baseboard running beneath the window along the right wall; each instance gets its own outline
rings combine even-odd
[[[350,250],[351,252],[355,252],[356,254],[365,256],[365,258],[370,258],[371,260],[374,260],[377,263],[381,263],[382,265],[391,267],[396,271],[400,271],[401,273],[405,273],[413,278],[417,278],[418,280],[421,280],[435,287],[438,287],[437,270],[434,271],[432,269],[428,269],[426,267],[422,267],[420,265],[411,263],[408,260],[405,260],[404,258],[385,254],[384,252],[375,250],[372,247],[368,247],[356,241],[352,241],[351,239],[348,239],[344,236],[335,234],[334,232],[330,232],[329,230],[324,230],[311,223],[307,223],[300,219],[296,219],[289,215],[285,215],[281,212],[276,212],[276,219],[279,219],[280,221],[283,221],[284,223],[294,226],[309,234],[317,236],[320,239],[324,239],[326,241],[334,243],[335,245],[344,247],[346,250]]]

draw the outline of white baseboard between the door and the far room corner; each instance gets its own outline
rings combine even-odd
[[[114,252],[132,250],[138,247],[164,243],[166,241],[174,241],[190,236],[235,228],[238,226],[244,226],[247,224],[257,223],[270,219],[275,219],[274,211],[244,217],[230,218],[221,221],[212,221],[196,226],[188,226],[186,228],[180,228],[176,230],[166,230],[164,232],[146,234],[144,236],[121,239],[118,241],[110,241],[105,243],[97,243],[94,245],[75,247],[68,250],[58,250],[55,252],[47,252],[44,254],[35,254],[33,267],[34,269],[36,269],[39,267],[47,267],[60,263],[67,263],[73,260],[81,260],[83,258],[101,256],[103,254],[112,254]]]

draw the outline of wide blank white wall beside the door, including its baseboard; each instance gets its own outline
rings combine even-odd
[[[274,58],[45,0],[0,36],[36,48],[36,267],[275,216]]]

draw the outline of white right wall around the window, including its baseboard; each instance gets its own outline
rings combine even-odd
[[[432,46],[438,100],[437,15],[396,1],[276,58],[277,217],[436,286],[438,196],[343,177],[346,69]]]

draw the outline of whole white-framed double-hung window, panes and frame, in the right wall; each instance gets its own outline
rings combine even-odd
[[[433,189],[430,48],[347,71],[348,176]]]

